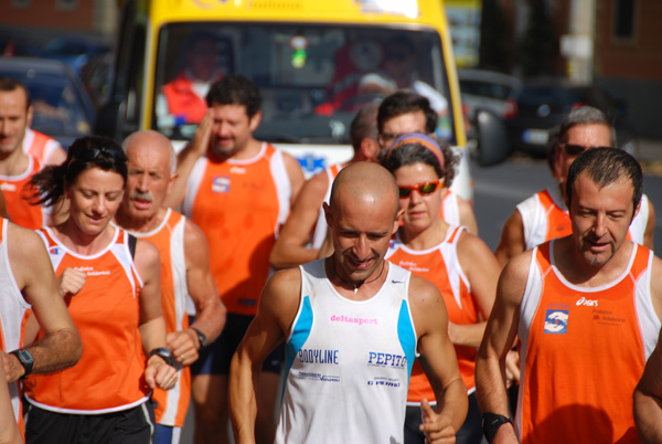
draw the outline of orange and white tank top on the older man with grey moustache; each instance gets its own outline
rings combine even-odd
[[[131,233],[156,245],[161,256],[161,308],[166,330],[182,331],[189,328],[186,316],[186,262],[184,256],[185,218],[168,209],[161,224],[149,233]],[[179,368],[179,380],[170,390],[154,388],[152,400],[158,424],[183,427],[191,398],[191,370]]]

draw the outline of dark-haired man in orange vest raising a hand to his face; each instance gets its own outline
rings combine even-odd
[[[227,321],[220,338],[192,366],[195,443],[225,443],[227,376],[232,356],[257,311],[269,275],[279,225],[303,183],[299,162],[253,133],[261,119],[259,89],[242,75],[212,85],[210,109],[180,155],[170,205],[204,232],[210,264]],[[282,350],[265,362],[258,395],[258,442],[274,442],[274,405]]]

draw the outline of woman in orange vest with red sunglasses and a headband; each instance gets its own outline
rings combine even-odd
[[[469,395],[469,412],[456,442],[480,443],[481,415],[473,370],[494,303],[499,263],[488,245],[467,228],[449,225],[439,218],[458,161],[448,145],[420,133],[409,133],[382,151],[381,161],[395,176],[401,208],[405,210],[386,258],[426,278],[441,292],[448,310],[448,336],[455,345]],[[425,398],[433,404],[434,397],[417,360],[409,380],[405,444],[425,443],[425,435],[418,429],[420,401]]]

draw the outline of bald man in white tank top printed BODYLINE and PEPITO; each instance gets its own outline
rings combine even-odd
[[[467,389],[444,299],[434,285],[384,260],[402,219],[393,176],[369,162],[343,168],[324,212],[334,253],[267,282],[233,358],[235,442],[254,442],[256,371],[284,340],[276,443],[402,443],[417,353],[444,406],[435,413],[427,400],[421,403],[421,430],[433,443],[455,442]]]

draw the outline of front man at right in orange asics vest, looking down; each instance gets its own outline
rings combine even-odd
[[[662,262],[627,240],[642,182],[622,150],[581,152],[566,180],[572,234],[505,265],[476,368],[489,442],[639,442],[632,392],[662,315]],[[513,425],[502,376],[515,335]]]

